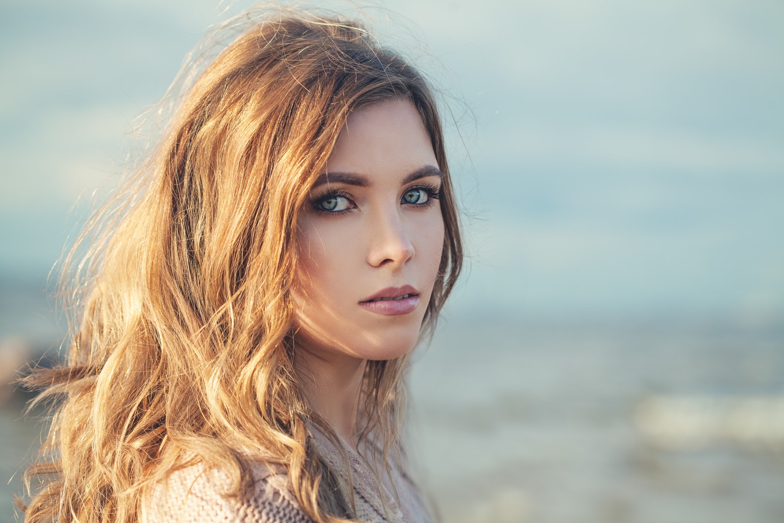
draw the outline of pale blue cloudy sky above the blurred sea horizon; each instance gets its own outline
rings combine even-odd
[[[116,184],[136,116],[250,4],[3,4],[0,289],[34,288]],[[445,103],[456,312],[784,324],[782,2],[366,5]]]

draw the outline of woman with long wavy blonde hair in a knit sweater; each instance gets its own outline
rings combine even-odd
[[[460,269],[448,172],[358,24],[250,22],[89,240],[26,521],[427,521],[403,374]]]

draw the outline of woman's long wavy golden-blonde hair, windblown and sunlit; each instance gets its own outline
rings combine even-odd
[[[318,456],[294,371],[296,223],[347,115],[409,99],[444,173],[445,242],[423,331],[460,271],[441,122],[426,81],[358,23],[254,19],[183,96],[168,132],[80,243],[67,361],[27,384],[55,399],[27,521],[138,521],[143,497],[205,463],[244,489],[249,451],[285,466],[315,521],[353,514],[350,486]],[[74,247],[75,252],[76,247]],[[64,272],[65,274],[66,272]],[[406,356],[370,361],[361,438],[397,445]]]

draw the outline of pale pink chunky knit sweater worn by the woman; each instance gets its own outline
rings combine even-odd
[[[314,442],[333,471],[343,470],[339,453],[324,435],[314,431]],[[365,461],[343,440],[349,458],[358,521],[367,523],[430,523],[416,486],[399,467],[392,467],[392,483],[381,489]],[[288,474],[264,463],[249,463],[251,487],[243,496],[224,493],[229,476],[218,469],[194,465],[173,472],[144,503],[143,523],[310,523],[299,506]],[[384,478],[387,480],[387,478]],[[390,495],[394,487],[398,500]],[[382,500],[386,500],[384,503]]]

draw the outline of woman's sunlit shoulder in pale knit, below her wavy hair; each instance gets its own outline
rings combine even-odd
[[[229,475],[202,464],[172,472],[142,508],[143,523],[310,523],[289,487],[289,477],[264,463],[248,463],[248,489],[229,496]]]

